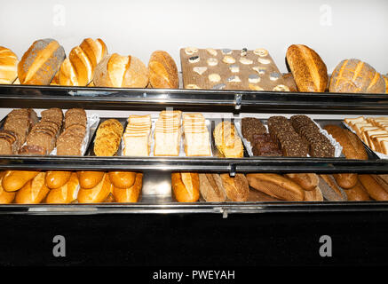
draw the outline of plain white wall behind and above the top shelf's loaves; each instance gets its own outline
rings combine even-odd
[[[386,0],[39,0],[2,1],[0,45],[19,58],[36,39],[51,37],[68,52],[100,37],[110,53],[147,63],[152,51],[265,47],[282,72],[292,43],[317,51],[329,73],[345,58],[388,72]]]

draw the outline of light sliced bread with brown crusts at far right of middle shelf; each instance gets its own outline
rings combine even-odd
[[[388,154],[388,117],[345,118],[357,136],[373,151]]]

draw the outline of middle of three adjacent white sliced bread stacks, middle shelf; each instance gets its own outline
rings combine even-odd
[[[159,114],[154,129],[154,156],[178,156],[182,112],[179,110],[163,110]]]

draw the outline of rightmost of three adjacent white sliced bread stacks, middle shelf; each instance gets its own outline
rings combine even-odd
[[[210,156],[210,137],[202,114],[183,114],[186,156]]]

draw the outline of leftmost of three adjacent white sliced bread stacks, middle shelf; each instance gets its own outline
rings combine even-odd
[[[149,156],[151,148],[151,115],[131,114],[123,135],[124,156]]]

